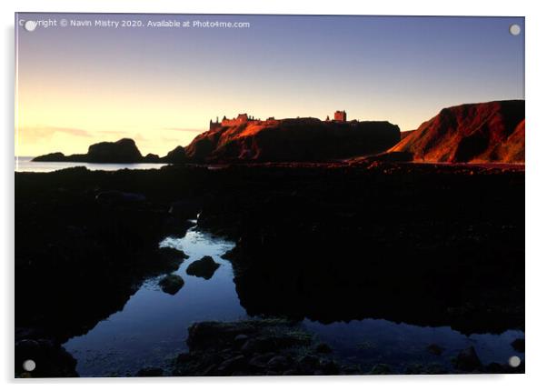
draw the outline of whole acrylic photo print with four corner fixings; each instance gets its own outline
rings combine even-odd
[[[523,373],[524,27],[15,14],[15,376]]]

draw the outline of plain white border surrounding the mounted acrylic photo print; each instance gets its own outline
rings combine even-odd
[[[240,1],[180,1],[180,0],[94,0],[64,1],[18,0],[3,1],[2,27],[2,76],[5,91],[1,95],[5,129],[2,132],[3,169],[2,179],[2,226],[0,248],[5,252],[2,260],[4,284],[2,284],[1,336],[4,339],[0,353],[1,379],[7,386],[19,383],[20,387],[40,386],[43,389],[69,389],[74,386],[94,389],[96,386],[114,389],[130,386],[134,389],[149,389],[158,384],[162,389],[191,387],[195,389],[227,390],[256,389],[274,390],[279,387],[313,387],[314,390],[388,388],[409,390],[461,391],[478,386],[500,390],[517,388],[540,388],[547,384],[545,376],[545,310],[543,298],[547,297],[547,255],[544,246],[545,208],[547,194],[545,183],[547,170],[543,151],[547,148],[547,125],[545,124],[545,69],[547,69],[544,45],[547,40],[545,13],[539,1],[495,1],[477,0],[442,1],[387,1],[351,2],[277,0],[260,2]],[[345,376],[345,377],[293,377],[293,378],[171,378],[171,379],[80,379],[14,381],[13,368],[13,256],[14,256],[14,13],[26,12],[134,12],[134,13],[210,13],[210,14],[314,14],[314,15],[511,15],[526,17],[526,375],[522,376]],[[472,196],[472,195],[471,195]],[[543,245],[543,246],[542,246]]]

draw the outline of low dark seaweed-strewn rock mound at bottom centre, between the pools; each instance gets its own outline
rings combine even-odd
[[[189,353],[175,376],[341,375],[356,369],[319,353],[313,336],[283,319],[202,322],[188,329]]]

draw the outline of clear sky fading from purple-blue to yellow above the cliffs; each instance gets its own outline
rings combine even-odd
[[[148,25],[161,21],[181,26]],[[443,107],[524,98],[522,17],[19,13],[15,51],[15,155],[123,137],[165,155],[239,113],[345,110],[404,131]]]

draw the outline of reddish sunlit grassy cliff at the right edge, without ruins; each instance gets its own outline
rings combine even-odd
[[[390,152],[425,162],[524,163],[524,101],[443,108]]]

